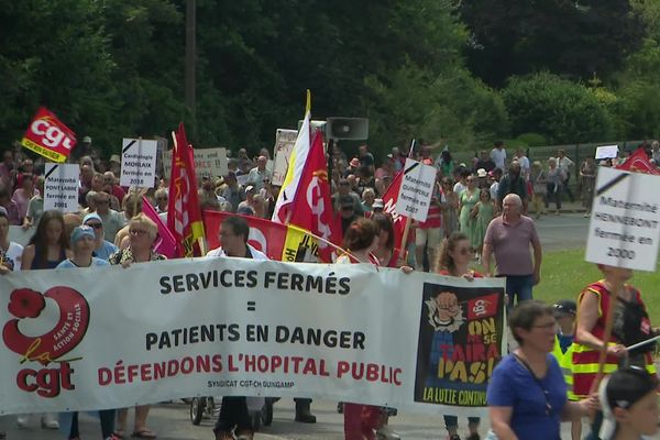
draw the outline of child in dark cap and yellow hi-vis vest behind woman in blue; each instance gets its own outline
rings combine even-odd
[[[554,338],[554,349],[552,354],[557,358],[559,366],[564,376],[569,389],[569,400],[579,400],[573,394],[573,372],[571,370],[571,359],[573,351],[571,346],[575,337],[575,316],[578,315],[578,305],[570,299],[562,299],[552,305],[554,309],[554,319],[557,320],[557,337]],[[582,435],[582,424],[573,421],[571,424],[571,439],[580,440]]]

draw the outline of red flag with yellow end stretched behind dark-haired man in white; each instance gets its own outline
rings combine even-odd
[[[210,249],[220,246],[220,223],[228,218],[243,217],[250,226],[248,243],[271,260],[288,262],[312,262],[317,253],[316,241],[300,229],[251,216],[231,212],[204,211],[207,242]]]

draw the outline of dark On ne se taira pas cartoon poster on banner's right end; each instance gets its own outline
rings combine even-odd
[[[415,402],[486,406],[504,328],[504,289],[425,283]]]

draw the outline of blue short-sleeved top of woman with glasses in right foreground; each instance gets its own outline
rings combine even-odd
[[[548,365],[540,384],[513,354],[504,358],[493,371],[486,399],[490,406],[513,408],[510,427],[519,439],[561,438],[560,417],[566,403],[566,384],[559,363],[550,353]],[[550,414],[546,403],[552,408]]]

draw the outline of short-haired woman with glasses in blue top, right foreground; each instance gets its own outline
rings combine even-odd
[[[580,420],[595,408],[596,398],[569,402],[554,346],[556,321],[551,306],[520,302],[509,328],[519,346],[493,371],[486,399],[492,432],[498,440],[559,440],[560,424]]]

